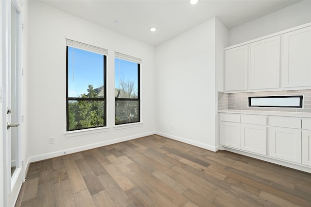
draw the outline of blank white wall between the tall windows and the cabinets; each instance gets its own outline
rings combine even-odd
[[[215,24],[212,18],[156,47],[159,134],[213,151]]]

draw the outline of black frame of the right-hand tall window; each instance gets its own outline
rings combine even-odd
[[[116,57],[115,57],[116,58]],[[122,59],[122,58],[119,58],[119,59]],[[126,60],[126,61],[129,61],[129,60]],[[135,62],[137,63],[137,62]],[[137,118],[138,118],[138,121],[131,121],[131,122],[125,122],[125,123],[116,123],[116,108],[115,108],[115,125],[123,125],[123,124],[129,124],[129,123],[138,123],[140,122],[140,63],[137,63],[137,69],[138,69],[138,83],[137,83],[137,96],[138,98],[119,98],[118,96],[115,97],[115,107],[116,107],[116,103],[118,101],[137,101],[138,102],[138,109],[137,109]]]

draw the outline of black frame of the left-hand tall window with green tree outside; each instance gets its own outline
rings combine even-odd
[[[92,129],[92,128],[98,128],[98,127],[104,127],[107,126],[107,99],[106,99],[106,73],[107,73],[107,56],[102,54],[104,56],[104,97],[98,97],[98,98],[78,98],[78,97],[68,97],[68,47],[66,47],[66,131],[77,131],[77,130],[83,130],[83,129]],[[83,50],[83,49],[81,49]],[[85,127],[85,128],[79,128],[79,129],[71,129],[69,130],[69,101],[104,101],[104,124],[101,126],[93,126],[93,127]]]

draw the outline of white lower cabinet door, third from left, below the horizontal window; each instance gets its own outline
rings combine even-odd
[[[268,137],[271,157],[301,163],[301,130],[270,127]]]

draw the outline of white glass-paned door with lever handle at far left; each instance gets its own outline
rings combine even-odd
[[[2,77],[2,112],[1,129],[3,154],[3,200],[0,205],[15,205],[23,181],[21,170],[21,22],[20,1],[1,1],[1,77]],[[2,161],[2,160],[1,160]]]

